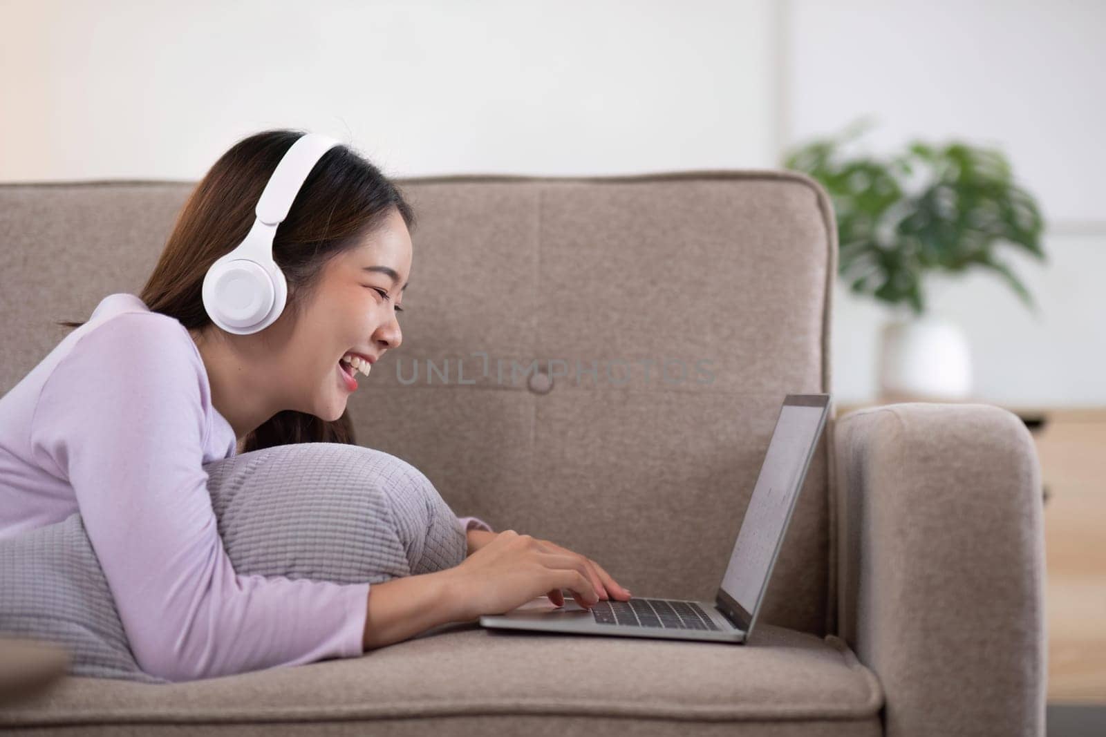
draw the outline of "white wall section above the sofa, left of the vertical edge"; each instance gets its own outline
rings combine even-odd
[[[771,0],[0,3],[0,180],[198,179],[284,126],[389,175],[773,162]]]

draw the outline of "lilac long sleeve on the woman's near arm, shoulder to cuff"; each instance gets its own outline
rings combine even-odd
[[[138,665],[190,681],[359,655],[369,583],[234,572],[204,471],[206,381],[179,324],[124,314],[58,364],[31,421],[32,451],[73,486]]]

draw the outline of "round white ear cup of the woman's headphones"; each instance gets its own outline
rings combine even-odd
[[[268,266],[241,257],[212,264],[204,277],[204,307],[211,322],[237,335],[258,333],[275,322],[284,308],[286,284],[275,264]]]

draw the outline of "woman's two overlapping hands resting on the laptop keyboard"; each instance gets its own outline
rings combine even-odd
[[[561,589],[572,591],[584,609],[612,594],[623,601],[630,598],[629,591],[589,558],[513,529],[492,535],[460,566],[448,569],[460,582],[467,619],[502,614],[542,593],[561,607]]]

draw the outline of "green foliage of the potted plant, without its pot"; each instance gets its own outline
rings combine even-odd
[[[912,140],[888,157],[844,157],[845,143],[870,119],[790,150],[789,168],[825,187],[837,222],[838,273],[849,288],[889,304],[925,309],[921,277],[970,267],[997,272],[1032,306],[1029,291],[998,261],[1002,244],[1045,261],[1044,219],[1014,181],[1001,150],[951,140]],[[907,191],[907,183],[921,187]]]

